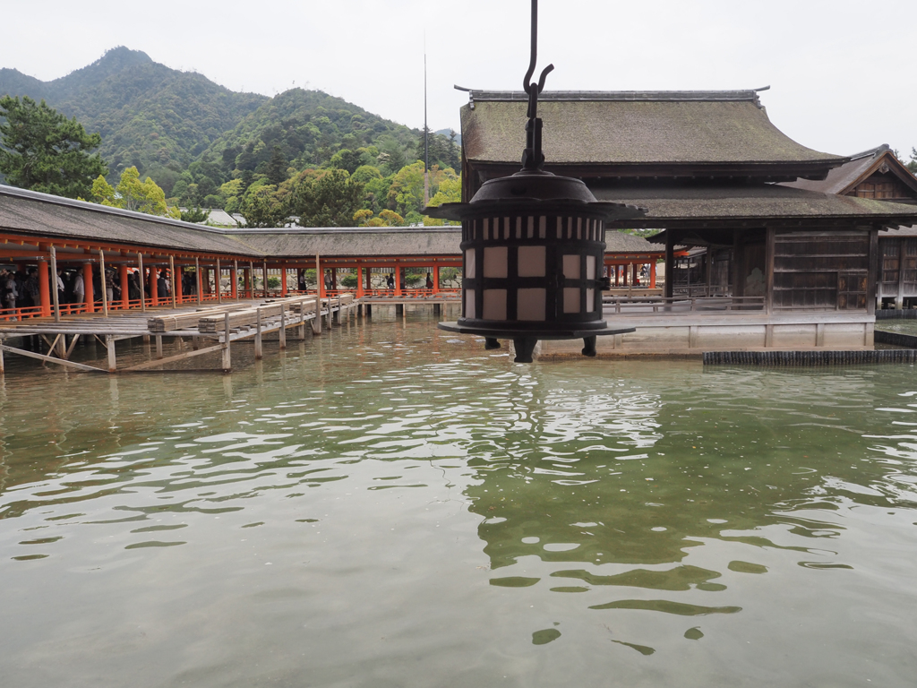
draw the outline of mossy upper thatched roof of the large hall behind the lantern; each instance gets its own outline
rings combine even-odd
[[[470,95],[461,111],[467,160],[472,166],[517,163],[525,148],[527,96]],[[544,120],[549,169],[589,165],[608,176],[630,176],[641,167],[674,165],[823,175],[847,160],[787,137],[771,123],[755,91],[546,92],[538,116]]]

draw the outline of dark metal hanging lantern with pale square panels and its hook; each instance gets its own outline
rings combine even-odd
[[[529,94],[523,169],[492,179],[467,204],[428,207],[425,213],[461,220],[464,262],[462,317],[439,327],[514,340],[516,362],[531,362],[538,339],[583,338],[582,352],[595,355],[595,338],[633,332],[602,320],[605,227],[608,219],[644,215],[633,205],[600,203],[579,179],[545,172],[538,94],[553,66],[535,72],[537,0],[532,2],[532,62],[525,75]]]

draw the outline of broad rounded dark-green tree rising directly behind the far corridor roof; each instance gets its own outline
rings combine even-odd
[[[363,184],[346,170],[304,172],[293,192],[293,215],[300,227],[352,227],[363,200]]]

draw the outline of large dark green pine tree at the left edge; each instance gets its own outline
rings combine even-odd
[[[23,189],[68,198],[88,196],[93,180],[107,174],[105,161],[92,151],[102,144],[76,117],[67,119],[43,100],[0,98],[0,172]]]

